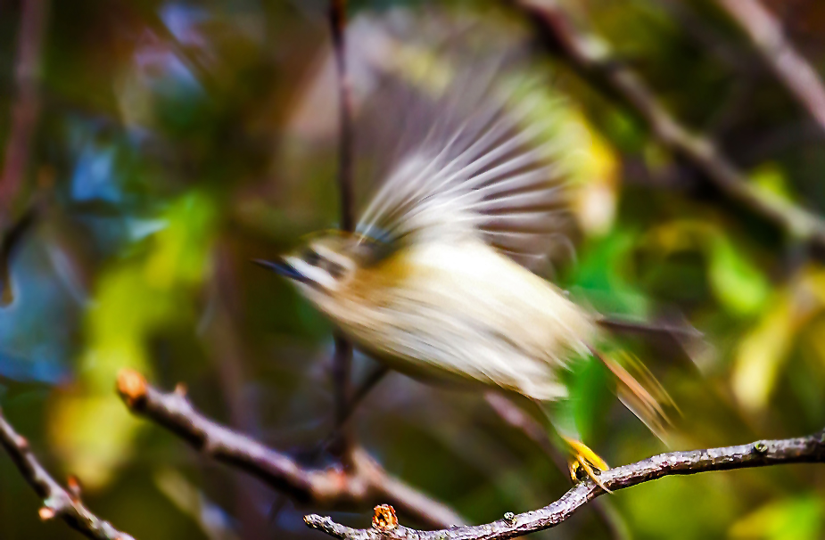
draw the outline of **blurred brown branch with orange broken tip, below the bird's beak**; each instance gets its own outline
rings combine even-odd
[[[118,393],[132,413],[160,424],[216,461],[267,482],[298,503],[346,508],[382,499],[433,527],[464,522],[446,505],[389,476],[361,448],[353,448],[348,470],[309,469],[198,413],[182,386],[164,393],[150,386],[141,374],[124,370],[118,376]]]

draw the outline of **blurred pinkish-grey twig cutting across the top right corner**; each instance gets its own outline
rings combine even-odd
[[[716,0],[747,32],[771,70],[825,130],[825,86],[759,0]]]

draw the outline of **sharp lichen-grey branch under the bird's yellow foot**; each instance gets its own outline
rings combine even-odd
[[[825,430],[810,437],[756,441],[750,445],[728,446],[659,454],[646,460],[606,470],[600,479],[611,491],[639,485],[665,476],[696,474],[709,470],[747,469],[780,463],[825,462]],[[333,520],[312,514],[304,521],[327,535],[342,540],[409,539],[417,540],[504,540],[556,527],[573,513],[605,491],[588,479],[571,488],[555,503],[521,514],[507,512],[503,520],[487,525],[419,531],[402,526],[368,529],[348,528]]]

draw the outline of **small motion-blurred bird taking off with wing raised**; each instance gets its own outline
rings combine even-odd
[[[639,382],[598,350],[604,317],[536,272],[572,249],[564,135],[549,135],[531,94],[497,85],[497,72],[486,70],[483,83],[477,74],[457,77],[437,91],[386,75],[382,89],[403,103],[367,105],[384,127],[386,107],[412,119],[379,137],[397,139],[396,149],[386,152],[355,231],[313,233],[298,249],[257,262],[393,370],[548,405],[573,480],[583,470],[606,489],[598,479],[606,462],[569,418],[552,417],[569,397],[565,370],[601,359],[648,425],[664,417],[663,405],[649,378]]]

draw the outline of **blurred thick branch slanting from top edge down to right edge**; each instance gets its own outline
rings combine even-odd
[[[642,119],[656,138],[704,173],[731,200],[759,214],[792,237],[825,250],[825,220],[749,184],[747,177],[702,135],[674,119],[630,67],[617,61],[600,38],[576,29],[556,0],[506,0],[532,20],[543,44],[574,70]]]

